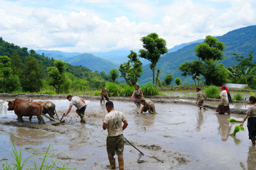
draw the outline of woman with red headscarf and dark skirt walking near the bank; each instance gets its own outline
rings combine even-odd
[[[218,99],[221,99],[221,104],[218,105],[216,112],[218,112],[219,114],[230,114],[231,112],[229,105],[232,104],[230,93],[226,86],[222,86],[221,90],[221,94],[217,97]]]

